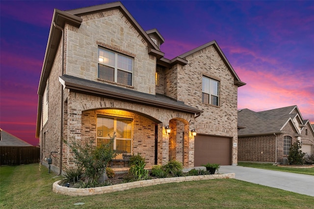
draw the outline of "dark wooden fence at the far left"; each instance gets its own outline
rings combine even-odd
[[[39,147],[0,147],[0,165],[38,163]]]

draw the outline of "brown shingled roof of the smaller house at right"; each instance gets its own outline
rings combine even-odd
[[[277,109],[271,109],[261,112],[255,112],[250,109],[238,110],[238,126],[244,126],[245,129],[238,131],[238,136],[262,135],[282,133],[282,129],[292,119],[302,116],[296,105],[287,106]],[[295,131],[297,128],[294,126]]]

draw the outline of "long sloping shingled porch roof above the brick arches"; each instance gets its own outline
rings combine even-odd
[[[83,94],[92,94],[191,114],[201,114],[203,112],[203,110],[199,110],[186,105],[181,101],[176,101],[163,95],[146,94],[68,75],[60,76],[59,80],[64,88],[78,91]]]

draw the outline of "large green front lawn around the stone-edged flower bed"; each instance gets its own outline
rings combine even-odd
[[[235,179],[168,183],[86,197],[52,192],[61,179],[38,164],[0,167],[1,209],[277,208],[312,209],[314,197]],[[75,203],[84,203],[75,206]]]

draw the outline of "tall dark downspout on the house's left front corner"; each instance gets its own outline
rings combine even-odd
[[[64,29],[58,25],[56,25],[53,22],[53,26],[55,26],[57,29],[61,30],[62,32],[62,64],[61,64],[61,76],[63,76],[64,73]],[[63,141],[62,141],[62,136],[63,136],[63,86],[61,84],[61,124],[60,124],[60,170],[58,176],[62,175],[62,157],[63,157]]]

